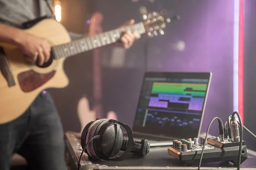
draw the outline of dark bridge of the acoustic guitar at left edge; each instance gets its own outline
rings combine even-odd
[[[2,53],[0,53],[0,71],[3,74],[3,77],[6,79],[8,86],[15,86],[15,80],[13,78],[11,69],[9,68],[8,60]]]

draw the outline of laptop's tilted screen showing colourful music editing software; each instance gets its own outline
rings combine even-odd
[[[133,131],[170,138],[198,137],[211,73],[145,73]]]

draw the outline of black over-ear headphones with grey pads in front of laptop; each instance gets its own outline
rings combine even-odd
[[[128,139],[123,139],[120,125],[127,131]],[[88,123],[81,134],[81,147],[84,149],[85,145],[88,156],[106,161],[122,161],[129,153],[145,156],[150,150],[148,140],[134,141],[131,127],[113,119],[96,119]],[[116,156],[120,150],[124,153]]]

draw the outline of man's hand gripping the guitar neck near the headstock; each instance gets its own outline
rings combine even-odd
[[[134,24],[134,20],[128,21],[127,23],[123,24],[121,27],[130,26],[132,24]],[[139,33],[136,33],[136,32],[131,33],[131,32],[125,31],[120,39],[120,42],[116,42],[115,45],[128,49],[131,47],[131,45],[133,45],[134,41],[138,39],[140,39]]]

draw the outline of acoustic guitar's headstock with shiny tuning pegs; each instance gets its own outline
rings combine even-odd
[[[145,32],[149,37],[157,36],[158,33],[161,35],[164,34],[164,29],[166,28],[166,24],[170,23],[172,20],[179,20],[179,16],[174,16],[171,19],[164,17],[165,11],[159,12],[150,12],[148,13],[145,8],[143,8],[143,25],[145,28]]]

